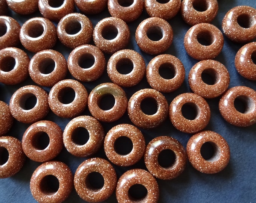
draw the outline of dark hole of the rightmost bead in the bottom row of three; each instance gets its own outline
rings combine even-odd
[[[128,195],[132,201],[136,202],[144,202],[144,198],[146,198],[148,194],[148,190],[144,185],[134,184],[129,188]]]

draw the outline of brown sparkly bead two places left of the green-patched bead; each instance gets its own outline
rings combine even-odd
[[[37,100],[36,104],[33,101],[35,97]],[[11,114],[16,120],[22,123],[35,123],[36,121],[42,120],[49,112],[47,98],[47,92],[42,88],[35,85],[23,86],[14,92],[11,97]],[[32,107],[33,104],[34,107]]]

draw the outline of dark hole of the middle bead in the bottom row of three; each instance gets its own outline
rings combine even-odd
[[[91,190],[100,190],[104,186],[104,177],[99,172],[91,172],[85,179],[85,185]]]

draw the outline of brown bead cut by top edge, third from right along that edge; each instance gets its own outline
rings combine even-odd
[[[143,0],[120,1],[109,0],[108,11],[112,17],[117,17],[126,23],[132,22],[140,17],[144,8]]]

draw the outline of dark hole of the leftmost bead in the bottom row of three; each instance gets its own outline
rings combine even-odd
[[[40,182],[40,189],[46,195],[53,195],[59,189],[59,180],[53,175],[44,176]]]

